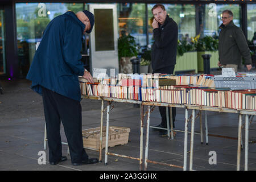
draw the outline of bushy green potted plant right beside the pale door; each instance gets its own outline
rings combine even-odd
[[[119,73],[133,73],[131,59],[138,55],[137,44],[133,36],[123,34],[118,38]]]

